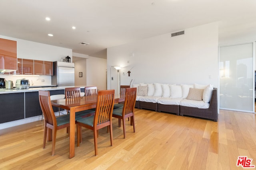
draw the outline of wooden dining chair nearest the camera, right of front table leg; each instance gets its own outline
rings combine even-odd
[[[115,90],[99,90],[97,95],[96,111],[94,116],[85,117],[77,120],[77,146],[79,147],[81,139],[81,127],[91,129],[94,136],[95,156],[98,155],[97,131],[103,127],[110,128],[110,144],[113,143],[112,134],[112,112],[114,106]]]

